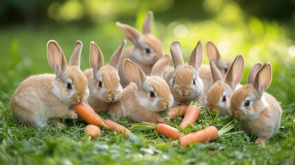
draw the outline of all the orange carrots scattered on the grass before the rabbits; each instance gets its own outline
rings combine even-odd
[[[89,124],[85,127],[85,135],[89,135],[92,138],[99,137],[101,133],[98,126],[104,127],[107,129],[107,131],[123,133],[123,135],[127,137],[131,135],[131,131],[126,127],[111,120],[103,121],[102,118],[100,118],[100,116],[94,111],[94,109],[85,103],[75,104],[73,109],[81,118],[83,118],[83,120]],[[168,116],[171,119],[174,119],[177,116],[184,117],[181,124],[179,124],[179,129],[184,129],[186,126],[193,125],[199,118],[200,113],[201,111],[199,107],[195,105],[180,105],[170,109],[168,111]],[[217,137],[226,135],[226,133],[233,128],[233,126],[228,123],[219,131],[215,126],[208,126],[205,129],[185,135],[178,129],[174,128],[173,126],[169,126],[168,124],[142,122],[142,124],[131,125],[131,129],[133,130],[155,129],[157,133],[164,135],[164,137],[171,138],[172,140],[179,140],[180,146],[182,147],[186,147],[189,144],[195,144],[198,142],[210,142],[217,140]]]

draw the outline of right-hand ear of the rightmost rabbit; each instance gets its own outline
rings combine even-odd
[[[263,94],[264,90],[270,87],[272,82],[272,65],[270,63],[265,63],[263,67],[255,76],[254,87],[259,91],[259,94]]]

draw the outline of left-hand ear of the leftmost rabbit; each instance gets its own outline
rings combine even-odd
[[[50,67],[55,71],[57,77],[61,76],[61,73],[67,67],[67,60],[61,50],[61,46],[54,40],[50,40],[47,43],[47,58]]]

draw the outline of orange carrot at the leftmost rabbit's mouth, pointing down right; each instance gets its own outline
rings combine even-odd
[[[102,121],[102,118],[100,118],[100,116],[94,111],[94,109],[92,109],[89,105],[85,104],[84,102],[74,104],[72,108],[88,124],[107,127],[105,122]]]

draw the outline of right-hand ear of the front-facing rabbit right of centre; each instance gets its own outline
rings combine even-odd
[[[203,44],[199,41],[192,54],[190,54],[188,65],[195,67],[198,71],[199,67],[201,67],[201,63],[203,63]]]

